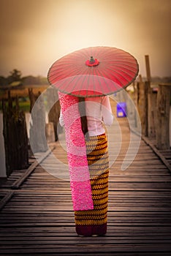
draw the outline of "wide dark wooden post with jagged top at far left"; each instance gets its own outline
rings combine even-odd
[[[3,100],[4,148],[7,176],[9,176],[12,170],[28,167],[28,137],[26,118],[23,111],[19,110],[18,97],[13,107],[9,93],[7,103],[8,105]]]

